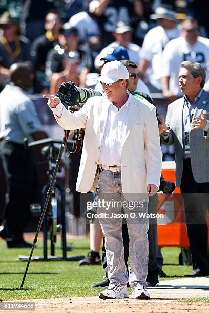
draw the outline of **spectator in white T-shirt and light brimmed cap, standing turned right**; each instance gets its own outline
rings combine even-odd
[[[163,7],[158,7],[150,18],[156,20],[159,25],[149,30],[144,37],[139,72],[142,78],[146,77],[148,80],[151,92],[161,92],[162,52],[166,43],[180,36],[180,27],[175,12]]]

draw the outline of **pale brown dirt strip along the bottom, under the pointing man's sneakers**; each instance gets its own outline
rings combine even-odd
[[[204,286],[203,286],[204,287]],[[98,291],[99,292],[99,291]],[[57,299],[36,299],[35,313],[51,312],[73,312],[73,313],[181,313],[197,312],[209,313],[209,303],[202,302],[176,302],[177,299],[208,298],[209,289],[173,287],[171,285],[149,288],[150,300],[135,300],[131,296],[129,299],[99,299],[98,297],[75,297]],[[20,301],[18,301],[20,302]],[[27,303],[33,300],[24,301]],[[3,302],[4,303],[4,302]],[[5,310],[0,310],[5,313]],[[7,312],[9,312],[7,310]],[[14,312],[10,311],[10,312]],[[17,311],[19,312],[19,311]],[[24,312],[34,312],[24,310]]]

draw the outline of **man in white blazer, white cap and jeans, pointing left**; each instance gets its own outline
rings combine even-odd
[[[75,113],[70,113],[56,96],[48,105],[58,124],[65,130],[85,128],[85,139],[77,178],[76,190],[88,192],[97,187],[99,200],[111,207],[97,207],[103,235],[106,238],[108,278],[110,285],[100,292],[100,298],[127,298],[127,282],[135,299],[149,299],[146,276],[148,271],[148,218],[138,213],[147,212],[149,196],[160,184],[161,149],[156,109],[143,103],[127,91],[129,72],[121,62],[105,64],[98,78],[105,96],[90,98]],[[131,211],[124,203],[138,203]],[[101,202],[100,202],[101,203]],[[128,214],[130,238],[129,279],[124,264],[121,206]],[[142,205],[140,205],[142,203]],[[103,210],[102,210],[103,209]],[[117,216],[113,216],[114,213]],[[135,214],[130,217],[130,212]],[[136,214],[137,213],[137,214]]]

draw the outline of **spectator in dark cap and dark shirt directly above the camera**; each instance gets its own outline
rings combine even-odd
[[[50,80],[52,73],[63,71],[62,61],[65,56],[71,52],[78,53],[81,61],[80,69],[80,85],[85,86],[86,74],[91,68],[91,56],[84,47],[78,46],[79,36],[75,27],[70,27],[67,24],[63,25],[60,35],[58,36],[59,44],[51,49],[47,56],[46,75]]]

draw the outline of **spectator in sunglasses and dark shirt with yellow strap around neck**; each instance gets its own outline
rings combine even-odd
[[[35,70],[43,72],[45,72],[47,54],[57,43],[62,27],[60,15],[56,10],[51,10],[46,14],[44,27],[46,33],[37,37],[30,49],[31,60]]]

